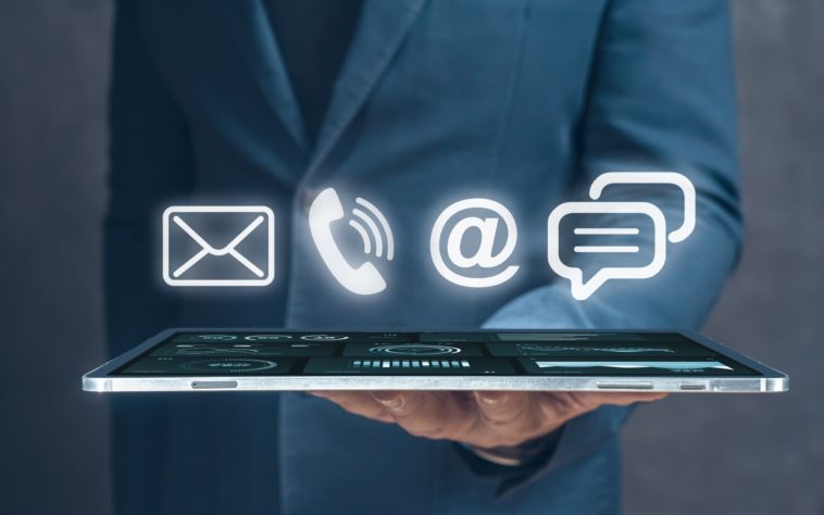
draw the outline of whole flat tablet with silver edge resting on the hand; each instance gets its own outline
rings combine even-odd
[[[787,376],[690,331],[168,329],[88,391],[774,392]]]

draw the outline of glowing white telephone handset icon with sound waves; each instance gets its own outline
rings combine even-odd
[[[391,261],[395,256],[395,240],[386,217],[375,205],[360,197],[355,203],[363,210],[352,209],[349,226],[363,240],[363,252],[374,253],[376,258],[386,256]],[[332,234],[332,224],[342,217],[344,206],[333,188],[321,191],[309,208],[309,230],[323,262],[335,279],[352,293],[371,296],[384,291],[386,281],[374,264],[366,262],[357,267],[351,266],[340,251]]]

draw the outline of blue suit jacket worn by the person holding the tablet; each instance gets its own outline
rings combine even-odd
[[[735,262],[726,2],[367,0],[314,146],[261,0],[122,2],[115,37],[105,226],[114,354],[182,325],[696,327]],[[547,265],[547,215],[598,174],[626,169],[687,174],[696,230],[670,246],[656,278],[575,301]],[[320,260],[305,214],[326,186],[389,218],[398,248],[382,294],[348,294]],[[654,200],[679,225],[677,192],[607,191]],[[435,271],[428,233],[446,205],[475,196],[512,211],[521,269],[470,291]],[[275,284],[163,287],[160,213],[177,202],[272,206]],[[571,422],[541,469],[507,480],[474,473],[449,442],[300,394],[114,404],[122,514],[620,510],[624,409]]]

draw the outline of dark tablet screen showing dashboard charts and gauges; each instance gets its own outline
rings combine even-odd
[[[177,332],[112,376],[752,376],[672,332]]]

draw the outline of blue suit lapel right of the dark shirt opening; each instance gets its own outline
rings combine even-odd
[[[335,84],[307,178],[324,161],[363,106],[426,0],[366,0]]]

